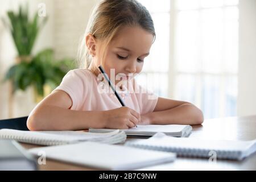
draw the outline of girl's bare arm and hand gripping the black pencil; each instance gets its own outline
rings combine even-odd
[[[141,115],[129,107],[106,111],[70,110],[72,100],[67,93],[56,90],[44,98],[27,119],[30,130],[85,130],[89,127],[128,129],[138,124]]]

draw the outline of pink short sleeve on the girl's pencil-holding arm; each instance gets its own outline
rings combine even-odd
[[[79,69],[71,70],[63,77],[60,85],[55,89],[63,90],[71,97],[71,110],[80,110],[84,103],[86,93],[88,93],[85,77],[86,75]]]

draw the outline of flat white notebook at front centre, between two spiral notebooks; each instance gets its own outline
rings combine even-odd
[[[28,151],[35,156],[43,151],[49,159],[108,170],[132,170],[172,162],[176,158],[175,154],[169,152],[96,142],[39,147]]]

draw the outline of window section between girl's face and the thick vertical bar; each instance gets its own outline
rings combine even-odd
[[[170,55],[170,1],[139,0],[146,6],[155,25],[156,40],[150,55],[144,59],[139,84],[162,97],[168,97],[168,65]],[[160,53],[159,53],[160,52]]]

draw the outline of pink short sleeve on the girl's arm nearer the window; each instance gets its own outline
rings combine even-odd
[[[141,114],[151,113],[154,111],[158,102],[158,96],[151,90],[143,88],[134,81],[134,90],[141,108]]]

